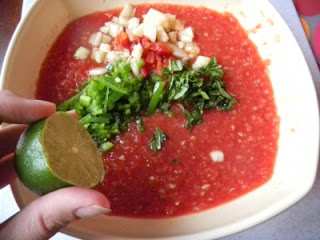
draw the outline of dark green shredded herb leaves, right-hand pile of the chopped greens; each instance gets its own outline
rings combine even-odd
[[[179,105],[187,117],[188,128],[202,123],[204,110],[230,111],[236,103],[235,97],[225,90],[223,70],[216,58],[212,58],[207,67],[199,70],[187,66],[181,68],[179,61],[170,60],[162,74],[169,82],[164,101],[170,103],[178,100],[193,109],[189,111],[182,104]]]

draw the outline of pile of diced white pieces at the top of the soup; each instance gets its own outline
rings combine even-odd
[[[134,17],[136,9],[132,5],[127,4],[122,9],[119,17],[113,17],[112,21],[105,22],[100,31],[90,36],[89,43],[93,48],[91,58],[97,63],[110,62],[114,63],[119,59],[123,59],[131,65],[133,73],[138,76],[140,69],[137,62],[143,55],[143,47],[141,44],[133,46],[130,54],[129,49],[123,51],[111,51],[111,42],[121,31],[124,30],[128,34],[130,41],[134,41],[137,37],[147,37],[150,41],[164,42],[172,48],[173,56],[182,61],[188,60],[199,54],[199,47],[192,43],[194,34],[191,27],[184,28],[183,23],[176,19],[175,15],[162,13],[155,9],[150,9],[143,16],[144,22],[140,23],[140,19]],[[168,41],[170,41],[168,43]],[[90,55],[87,49],[86,57]],[[76,56],[75,58],[84,58],[85,56]],[[200,68],[207,64],[207,59],[198,58],[193,67]]]

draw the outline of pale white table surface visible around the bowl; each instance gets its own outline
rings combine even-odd
[[[25,13],[34,0],[24,0],[22,12]],[[287,22],[296,37],[309,65],[320,99],[320,74],[312,55],[310,45],[303,33],[292,0],[269,0]],[[314,0],[318,1],[318,0]],[[19,211],[10,187],[0,190],[0,222],[3,222]],[[62,233],[56,234],[52,240],[75,240]],[[272,218],[271,220],[244,232],[224,238],[224,240],[318,240],[320,239],[320,167],[317,179],[311,191],[299,203]]]

